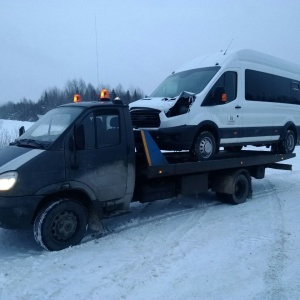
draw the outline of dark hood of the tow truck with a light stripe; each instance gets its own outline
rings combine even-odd
[[[0,174],[17,170],[32,158],[45,150],[17,146],[6,146],[0,149]]]

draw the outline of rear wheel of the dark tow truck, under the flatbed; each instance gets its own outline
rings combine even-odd
[[[244,203],[250,194],[250,179],[240,173],[234,178],[233,194],[224,194],[225,200],[231,204]]]

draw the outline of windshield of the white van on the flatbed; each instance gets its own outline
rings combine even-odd
[[[216,75],[219,69],[220,67],[216,66],[172,74],[156,88],[150,97],[172,98],[182,92],[199,94]]]

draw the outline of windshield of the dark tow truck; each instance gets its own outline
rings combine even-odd
[[[18,146],[43,148],[55,141],[82,112],[82,107],[58,107],[34,123],[15,142]]]

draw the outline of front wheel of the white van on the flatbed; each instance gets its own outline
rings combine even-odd
[[[216,153],[216,139],[209,132],[201,132],[194,145],[194,154],[197,160],[211,159]]]

